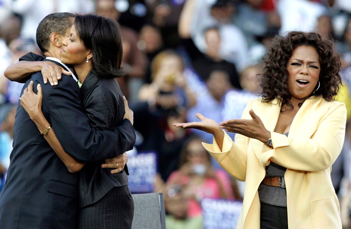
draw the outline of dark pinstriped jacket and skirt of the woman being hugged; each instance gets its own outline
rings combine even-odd
[[[90,72],[81,86],[81,98],[94,129],[110,129],[123,120],[123,95],[115,79],[98,78]],[[102,163],[86,163],[80,172],[79,228],[116,228],[118,222],[121,228],[128,228],[134,209],[127,186],[128,170],[125,167],[111,174],[112,169],[100,167]]]

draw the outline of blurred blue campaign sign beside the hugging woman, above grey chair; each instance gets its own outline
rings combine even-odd
[[[128,187],[131,193],[153,192],[157,173],[157,156],[155,152],[138,152],[128,154]]]

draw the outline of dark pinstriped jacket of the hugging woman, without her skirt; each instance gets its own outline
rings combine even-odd
[[[81,88],[84,109],[94,129],[117,127],[125,114],[123,95],[115,79],[97,77],[90,71]],[[80,207],[97,202],[114,187],[128,185],[127,165],[118,174],[101,169],[102,162],[86,163],[80,172]]]

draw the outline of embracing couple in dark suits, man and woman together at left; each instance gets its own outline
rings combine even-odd
[[[37,43],[45,59],[28,53],[5,72],[26,83],[0,195],[1,229],[131,228],[125,152],[135,133],[115,81],[123,74],[117,23],[49,14]]]

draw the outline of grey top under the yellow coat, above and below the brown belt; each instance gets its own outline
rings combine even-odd
[[[289,132],[284,133],[288,135]],[[284,177],[286,168],[271,162],[266,166],[265,177]],[[286,207],[286,189],[260,184],[258,187],[258,196],[260,201],[274,206]]]

